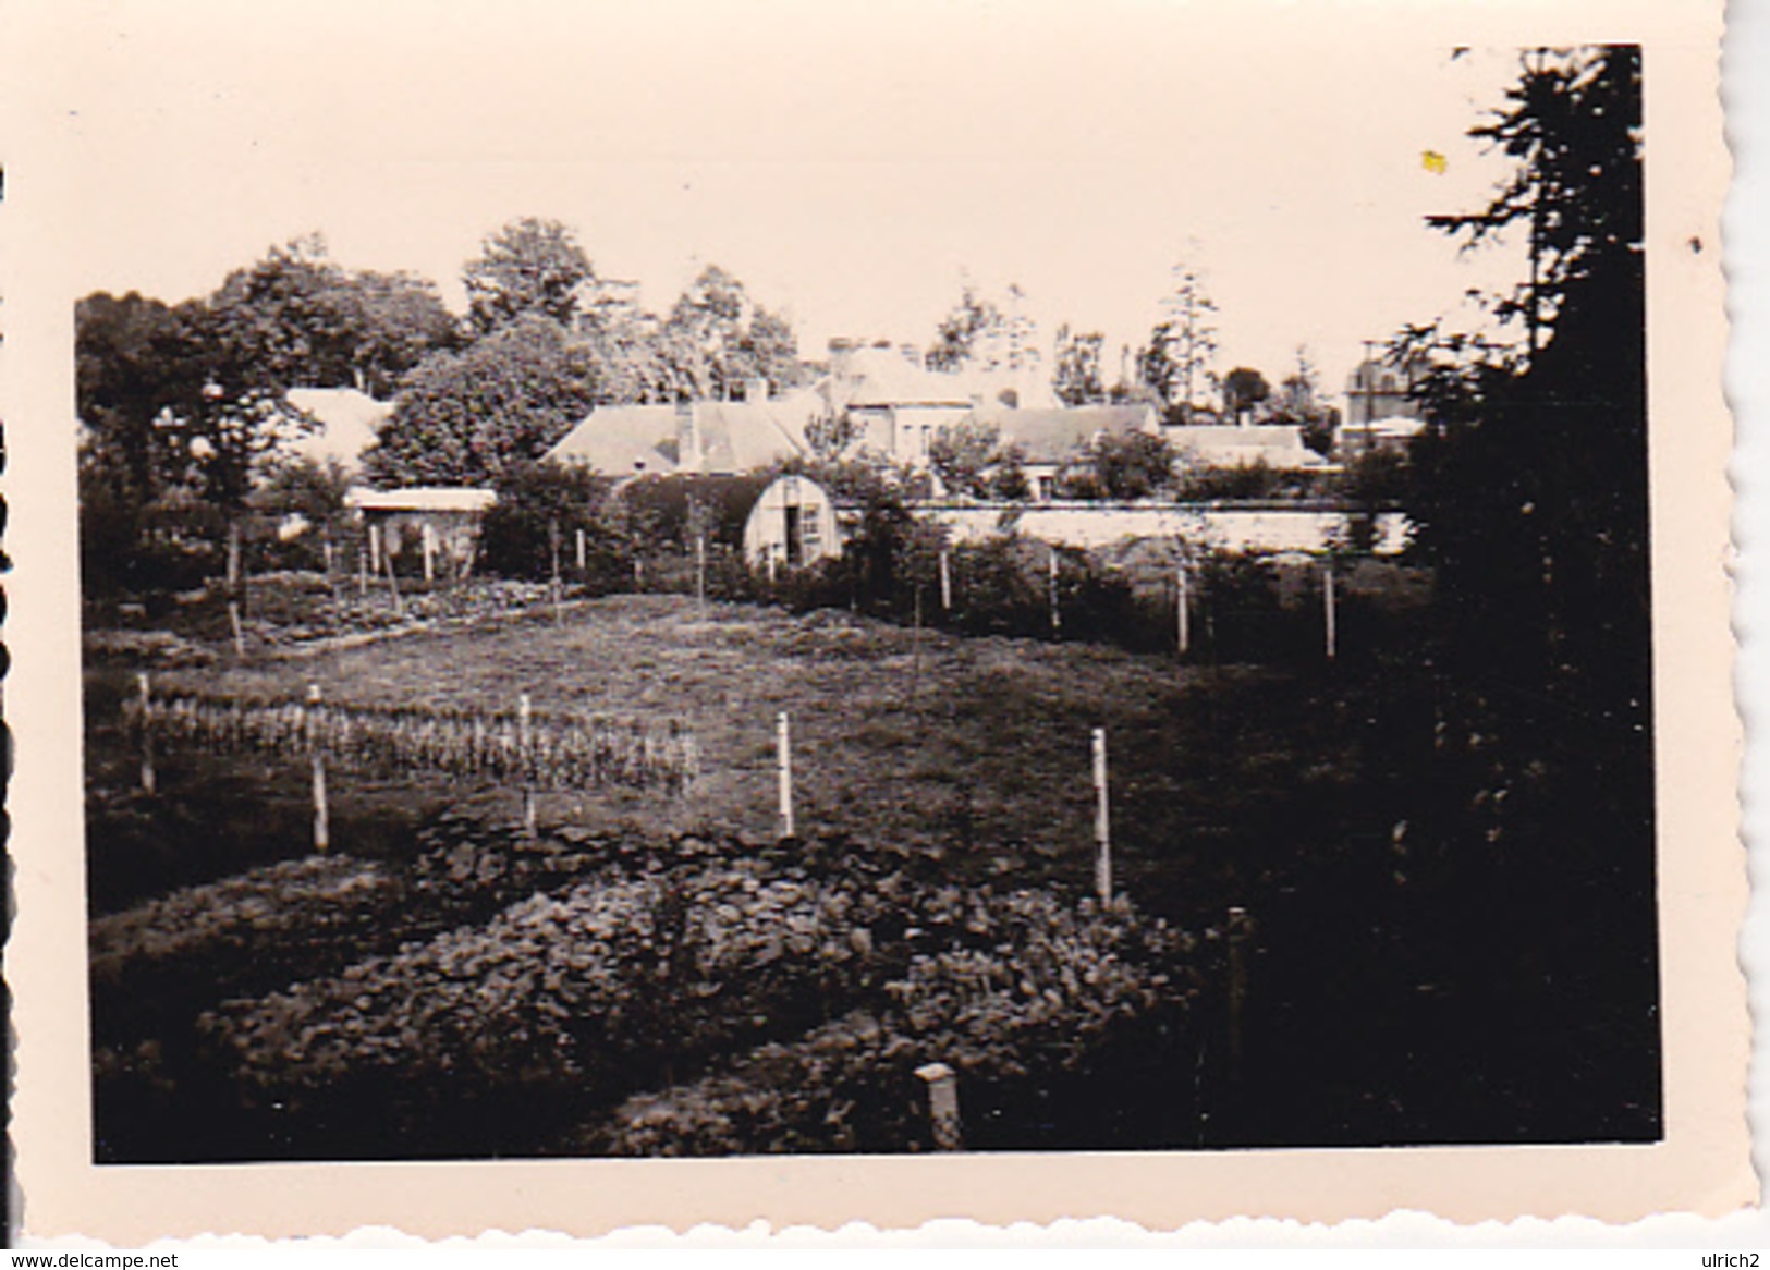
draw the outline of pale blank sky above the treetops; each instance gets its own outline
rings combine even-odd
[[[44,5],[25,34],[73,294],[205,294],[319,230],[458,308],[481,235],[550,216],[651,308],[724,265],[812,357],[926,347],[965,276],[1020,283],[1046,348],[1108,334],[1112,377],[1188,260],[1220,370],[1276,384],[1306,343],[1338,391],[1361,340],[1517,276],[1421,223],[1501,175],[1464,133],[1515,55],[1451,62],[1400,9],[257,0]]]

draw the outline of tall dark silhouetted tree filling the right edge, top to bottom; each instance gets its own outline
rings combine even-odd
[[[1476,1114],[1651,1137],[1639,48],[1526,53],[1473,134],[1512,156],[1510,177],[1432,223],[1469,244],[1522,233],[1531,264],[1494,297],[1497,334],[1420,327],[1395,352],[1432,357],[1409,515],[1439,616],[1435,743],[1398,833],[1411,874],[1455,897],[1421,911],[1418,945],[1444,932],[1430,955],[1487,1001],[1466,1024]]]

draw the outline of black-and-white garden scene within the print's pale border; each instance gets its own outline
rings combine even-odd
[[[671,12],[88,42],[92,1162],[1660,1143],[1643,48]]]

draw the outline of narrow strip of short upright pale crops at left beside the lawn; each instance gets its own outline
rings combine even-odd
[[[124,700],[124,723],[156,743],[219,752],[308,755],[359,769],[434,771],[545,789],[600,785],[681,792],[699,769],[680,720],[469,715],[411,708],[218,699]]]

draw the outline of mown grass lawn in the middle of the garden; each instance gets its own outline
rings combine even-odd
[[[1340,794],[1359,780],[1349,769],[1358,729],[1289,674],[1193,669],[1099,646],[919,639],[843,612],[701,610],[681,596],[612,596],[568,610],[563,624],[416,633],[158,679],[271,697],[299,695],[310,681],[327,700],[359,704],[508,711],[529,692],[540,713],[683,718],[703,755],[687,798],[542,799],[543,821],[612,819],[646,831],[773,835],[775,715],[786,711],[802,837],[890,840],[950,853],[961,876],[1016,870],[1078,888],[1092,876],[1089,738],[1104,727],[1119,884],[1181,916],[1250,899],[1239,891],[1281,863],[1274,851],[1294,851],[1297,833],[1320,837],[1329,805],[1345,810]],[[191,775],[228,780],[216,766],[195,761]],[[299,810],[301,773],[251,777]],[[166,789],[177,796],[177,775]],[[350,773],[333,792],[345,819],[352,799],[515,808],[510,791],[388,789]],[[297,814],[297,835],[303,824]],[[361,851],[349,833],[338,849]]]

